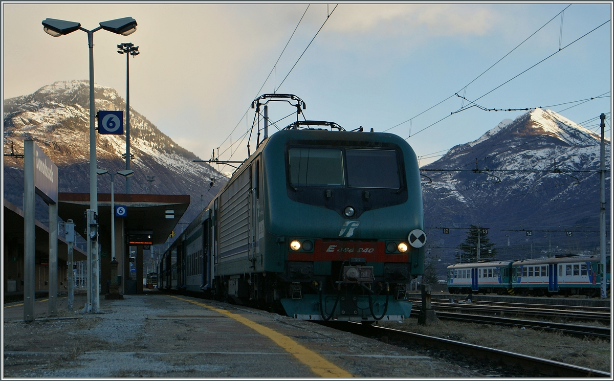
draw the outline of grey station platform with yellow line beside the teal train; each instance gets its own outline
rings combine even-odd
[[[101,298],[101,313],[23,322],[4,305],[3,377],[475,377],[469,369],[309,321],[207,299],[144,290]],[[80,310],[85,295],[74,298]]]

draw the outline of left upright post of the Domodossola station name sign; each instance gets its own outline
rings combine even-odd
[[[23,140],[23,321],[34,321],[34,140]]]

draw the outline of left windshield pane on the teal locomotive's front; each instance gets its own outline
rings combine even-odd
[[[340,149],[290,148],[292,185],[345,185]]]

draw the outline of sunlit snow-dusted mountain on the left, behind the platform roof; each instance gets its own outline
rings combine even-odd
[[[95,86],[96,110],[125,110],[125,100],[112,88]],[[58,166],[60,192],[89,193],[89,84],[87,80],[55,82],[33,94],[4,100],[4,153],[23,153],[23,140],[34,139]],[[98,167],[125,169],[125,136],[96,134]],[[177,145],[146,117],[130,110],[131,193],[190,194],[191,204],[182,222],[191,221],[225,183],[219,172]],[[153,182],[148,176],[155,176]],[[115,177],[115,192],[124,193],[123,177]],[[99,176],[99,193],[111,193],[111,177]],[[23,160],[4,156],[4,197],[22,204]],[[43,208],[44,209],[44,208]],[[44,219],[44,217],[42,217]]]

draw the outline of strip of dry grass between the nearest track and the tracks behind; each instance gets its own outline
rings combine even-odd
[[[414,319],[378,325],[468,344],[536,356],[547,360],[611,372],[612,345],[602,339],[579,339],[561,333],[486,324],[444,321],[422,326]]]

